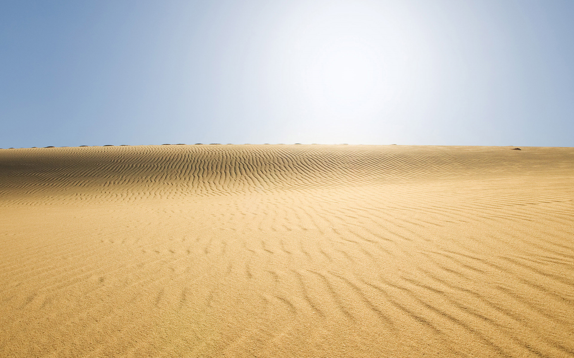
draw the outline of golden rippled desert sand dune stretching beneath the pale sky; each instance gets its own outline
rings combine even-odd
[[[1,357],[573,357],[574,149],[0,150]]]

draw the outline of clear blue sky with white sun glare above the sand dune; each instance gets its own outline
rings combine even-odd
[[[0,1],[0,148],[574,146],[572,0]]]

